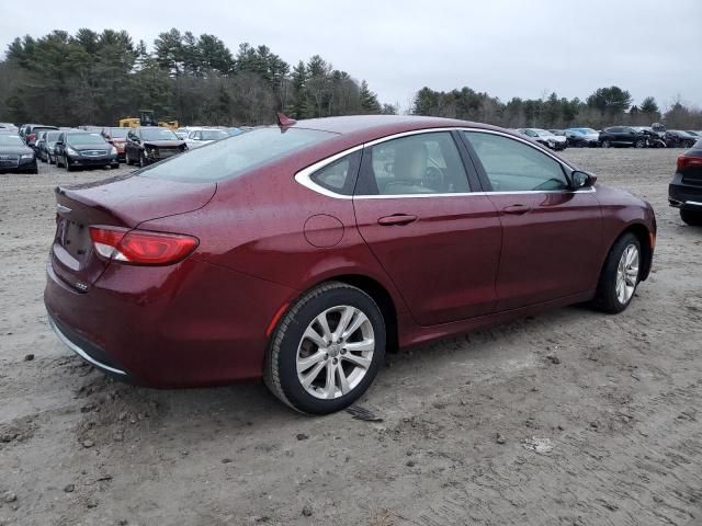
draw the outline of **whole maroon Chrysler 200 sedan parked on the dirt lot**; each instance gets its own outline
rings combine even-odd
[[[620,312],[648,276],[650,205],[519,135],[280,122],[57,187],[58,338],[128,381],[263,377],[321,414],[356,400],[386,350],[569,304]]]

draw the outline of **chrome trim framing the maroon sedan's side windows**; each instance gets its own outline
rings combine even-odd
[[[354,151],[359,151],[362,150],[366,147],[371,147],[371,146],[375,146],[378,145],[381,142],[386,142],[388,140],[393,140],[393,139],[399,139],[401,137],[408,137],[411,135],[419,135],[419,134],[431,134],[431,133],[435,133],[435,132],[478,132],[478,133],[483,133],[483,134],[492,134],[492,135],[499,135],[502,137],[506,137],[508,139],[512,139],[512,140],[517,140],[520,142],[523,142],[524,145],[533,148],[534,150],[548,156],[551,159],[553,159],[554,161],[556,161],[562,168],[565,168],[567,170],[577,170],[576,168],[571,167],[570,164],[565,163],[563,160],[558,159],[557,157],[553,156],[551,152],[548,151],[544,151],[541,148],[539,148],[537,146],[535,146],[534,144],[532,144],[532,141],[522,138],[522,137],[517,137],[514,135],[510,135],[510,134],[506,134],[503,132],[499,132],[496,129],[485,129],[485,128],[472,128],[469,126],[451,126],[451,127],[443,127],[443,128],[422,128],[422,129],[412,129],[410,132],[401,132],[399,134],[393,134],[393,135],[388,135],[386,137],[381,137],[378,139],[374,139],[374,140],[370,140],[367,142],[363,142],[361,145],[356,145],[354,147],[348,148],[343,151],[340,151],[339,153],[335,153],[333,156],[327,157],[320,161],[315,162],[314,164],[310,164],[307,168],[304,168],[302,170],[299,170],[296,174],[295,174],[295,181],[297,181],[301,185],[305,186],[306,188],[312,190],[313,192],[316,192],[318,194],[321,194],[324,196],[327,197],[332,197],[335,199],[398,199],[398,198],[404,198],[404,197],[410,197],[410,198],[417,198],[417,197],[467,197],[467,196],[472,196],[472,195],[519,195],[519,194],[564,194],[564,193],[569,193],[569,194],[578,194],[578,193],[595,193],[597,192],[597,190],[592,186],[590,188],[586,188],[586,190],[545,190],[545,191],[539,191],[539,190],[529,190],[529,191],[521,191],[521,192],[461,192],[461,193],[450,193],[450,194],[385,194],[385,195],[343,195],[343,194],[338,194],[337,192],[332,192],[330,190],[325,188],[324,186],[315,183],[312,180],[312,175],[318,171],[321,170],[322,168],[327,167],[328,164],[331,164],[335,161],[338,161],[339,159],[341,159],[342,157],[348,156],[349,153],[353,153]]]

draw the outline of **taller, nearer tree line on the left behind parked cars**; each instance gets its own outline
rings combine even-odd
[[[0,62],[0,121],[113,124],[138,110],[190,125],[396,113],[363,80],[319,55],[288,65],[267,46],[236,54],[214,35],[172,28],[152,49],[125,31],[82,28],[24,36]]]

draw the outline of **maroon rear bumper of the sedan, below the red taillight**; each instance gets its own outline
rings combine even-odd
[[[44,302],[58,338],[126,381],[196,387],[262,376],[267,328],[296,293],[190,258],[109,265],[81,293],[47,265]]]

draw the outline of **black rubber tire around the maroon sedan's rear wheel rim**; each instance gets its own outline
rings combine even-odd
[[[361,377],[355,387],[337,398],[321,399],[307,392],[298,378],[298,347],[303,342],[303,334],[315,318],[327,309],[341,306],[359,309],[367,317],[373,329],[375,348],[365,375]],[[333,413],[351,405],[373,382],[377,369],[383,363],[385,343],[385,320],[373,298],[360,288],[346,283],[329,282],[313,288],[301,297],[279,322],[267,352],[263,379],[275,397],[301,413]],[[317,347],[318,351],[319,347]],[[333,359],[333,363],[337,364],[337,358],[330,358],[328,355],[325,362],[328,364],[330,359]],[[348,363],[342,357],[338,359],[339,364]],[[326,367],[329,367],[329,365],[326,365]],[[318,374],[321,375],[322,373],[319,371]],[[336,386],[338,376],[335,374],[333,378]]]

